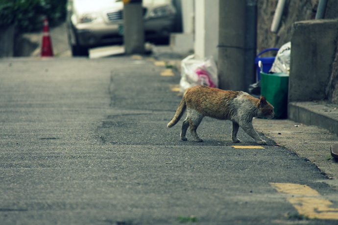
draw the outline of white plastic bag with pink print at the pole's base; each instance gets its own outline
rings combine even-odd
[[[212,56],[196,60],[190,55],[181,62],[180,92],[197,85],[218,87],[217,67]]]

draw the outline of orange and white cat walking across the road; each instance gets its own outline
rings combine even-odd
[[[181,139],[187,140],[186,133],[190,126],[191,134],[195,141],[203,141],[196,133],[196,129],[204,116],[221,120],[232,121],[232,141],[240,142],[237,132],[241,127],[258,144],[266,144],[265,140],[257,134],[252,126],[253,117],[273,118],[273,106],[266,101],[243,91],[220,90],[207,86],[195,86],[184,92],[182,101],[177,108],[174,118],[168,127],[174,126],[187,109],[187,118],[183,121]]]

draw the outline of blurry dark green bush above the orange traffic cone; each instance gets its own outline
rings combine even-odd
[[[42,18],[50,25],[66,18],[67,0],[0,0],[0,26],[15,24],[20,32],[41,30]]]

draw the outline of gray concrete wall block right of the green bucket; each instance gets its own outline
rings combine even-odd
[[[337,20],[296,22],[291,36],[289,102],[326,98],[338,37]]]

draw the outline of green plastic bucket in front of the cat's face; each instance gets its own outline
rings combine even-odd
[[[274,107],[275,119],[288,117],[288,73],[265,73],[261,71],[261,94]]]

